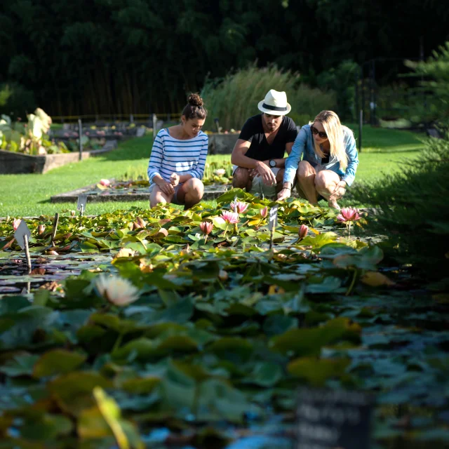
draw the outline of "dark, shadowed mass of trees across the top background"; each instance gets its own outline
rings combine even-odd
[[[342,60],[427,57],[448,18],[436,0],[3,0],[0,83],[53,115],[177,112],[254,61],[313,84]]]

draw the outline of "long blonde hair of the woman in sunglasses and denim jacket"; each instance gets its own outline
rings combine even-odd
[[[340,119],[333,111],[321,111],[315,117],[314,121],[311,121],[309,124],[313,125],[315,121],[319,121],[321,125],[323,125],[323,128],[328,135],[330,155],[337,156],[338,161],[340,161],[341,168],[347,168],[348,156],[346,154],[346,145],[344,145],[344,130],[351,134],[352,131],[347,128],[347,126],[343,126],[342,123],[340,123]],[[323,158],[323,150],[316,142],[314,142],[314,145],[316,154],[320,158]]]

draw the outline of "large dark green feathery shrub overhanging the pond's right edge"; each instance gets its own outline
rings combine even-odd
[[[356,201],[379,208],[368,231],[387,235],[389,253],[430,279],[448,276],[448,170],[446,130],[444,139],[425,140],[420,157],[406,163],[399,173],[353,190]]]

